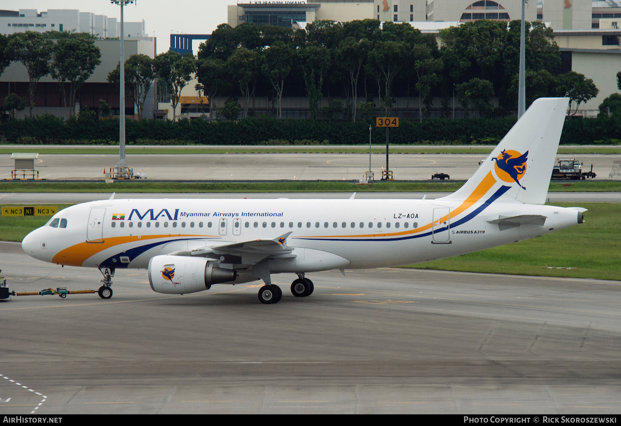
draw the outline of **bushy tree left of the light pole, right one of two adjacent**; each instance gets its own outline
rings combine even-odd
[[[74,106],[76,91],[84,86],[95,67],[101,63],[100,57],[101,51],[95,46],[89,34],[66,32],[58,39],[52,49],[50,73],[58,80],[65,107],[67,106],[65,83],[69,83],[69,104]],[[72,108],[71,116],[73,114]]]

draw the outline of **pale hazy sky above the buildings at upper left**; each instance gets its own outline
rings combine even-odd
[[[125,22],[145,20],[145,29],[157,37],[157,53],[170,47],[171,34],[211,34],[218,25],[227,22],[227,5],[235,0],[136,0],[125,6]],[[116,17],[120,21],[120,6],[110,0],[0,0],[0,9],[78,9],[96,15]],[[194,54],[200,42],[194,42]]]

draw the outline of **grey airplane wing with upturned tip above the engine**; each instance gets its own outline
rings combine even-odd
[[[284,233],[280,237],[272,240],[250,240],[239,243],[216,245],[211,247],[201,247],[188,252],[171,253],[178,256],[202,256],[207,258],[220,259],[221,256],[228,258],[233,263],[243,265],[255,265],[265,258],[294,258],[293,248],[288,247],[287,237],[291,232]],[[237,258],[237,261],[231,259]]]

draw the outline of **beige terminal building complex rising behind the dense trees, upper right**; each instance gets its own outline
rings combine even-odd
[[[439,42],[440,30],[451,25],[478,19],[508,22],[521,16],[522,0],[273,0],[230,5],[227,22],[232,27],[254,22],[304,29],[314,20],[379,19],[409,22],[422,32],[435,34]],[[551,27],[568,69],[594,80],[599,95],[582,104],[579,114],[596,115],[604,98],[618,93],[619,0],[530,0],[525,7],[525,19],[545,22]],[[292,99],[289,101],[296,104]]]

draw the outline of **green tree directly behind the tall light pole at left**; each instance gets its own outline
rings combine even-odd
[[[147,93],[155,79],[155,66],[152,58],[142,53],[132,55],[125,61],[125,93],[128,94],[138,109],[138,120],[142,119],[142,109],[147,99]],[[108,73],[109,83],[120,86],[120,64],[116,70]],[[125,106],[120,106],[121,114]]]

